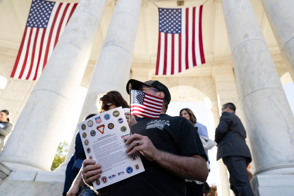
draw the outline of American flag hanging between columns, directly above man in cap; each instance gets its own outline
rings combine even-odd
[[[159,34],[155,75],[173,75],[205,63],[202,7],[158,8]]]

